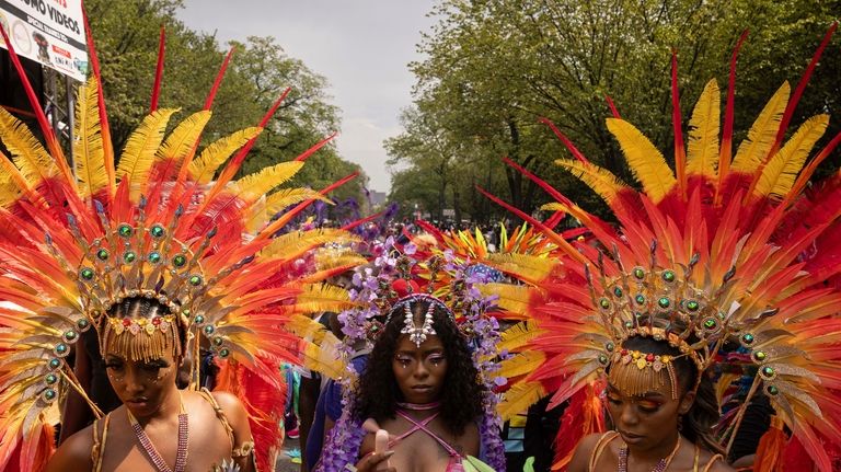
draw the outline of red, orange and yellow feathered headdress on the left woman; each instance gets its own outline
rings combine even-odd
[[[296,265],[324,242],[356,240],[341,231],[272,238],[296,211],[331,189],[274,192],[330,139],[295,161],[233,180],[280,101],[258,127],[198,152],[223,66],[206,110],[169,136],[164,130],[176,111],[157,110],[155,89],[152,111],[128,139],[117,165],[89,37],[94,77],[79,90],[71,166],[5,39],[46,148],[0,108],[0,139],[10,153],[0,156],[0,469],[15,448],[21,451],[15,467],[22,470],[39,470],[48,458],[62,392],[71,388],[87,399],[65,359],[91,329],[103,344],[134,358],[173,349],[198,359],[205,339],[219,359],[227,359],[229,380],[247,371],[280,389],[278,362],[297,361],[300,347],[283,324],[295,313],[347,307],[346,292],[318,280],[358,263],[334,261],[318,270]],[[293,204],[299,205],[277,215]],[[154,299],[169,313],[148,320],[108,314],[135,297]],[[186,331],[184,346],[174,335],[181,330]],[[198,364],[193,362],[193,387]],[[270,412],[260,411],[266,405],[247,399],[245,404],[257,437],[258,467],[268,470],[277,423],[272,424]]]

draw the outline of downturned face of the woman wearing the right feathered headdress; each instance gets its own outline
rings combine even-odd
[[[694,400],[692,392],[673,400],[668,383],[652,388],[642,395],[629,395],[608,383],[607,396],[608,411],[617,431],[629,448],[637,450],[654,449],[665,441],[673,441],[678,416],[686,414]]]

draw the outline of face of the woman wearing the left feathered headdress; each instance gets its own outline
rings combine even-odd
[[[110,349],[104,360],[111,385],[137,417],[155,413],[176,390],[178,362],[169,349],[163,357],[148,361],[126,359]]]

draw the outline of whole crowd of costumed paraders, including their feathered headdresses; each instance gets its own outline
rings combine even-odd
[[[3,470],[267,471],[292,429],[319,472],[841,468],[839,139],[806,164],[787,85],[734,154],[711,82],[673,170],[608,118],[638,189],[557,131],[610,222],[519,170],[550,219],[327,228],[274,192],[323,143],[233,180],[256,131],[153,110],[117,159],[97,68],[74,170],[0,110]]]

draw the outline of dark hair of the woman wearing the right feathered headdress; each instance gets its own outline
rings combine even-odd
[[[633,336],[622,343],[626,349],[650,353],[654,355],[669,355],[673,357],[675,372],[678,376],[681,394],[695,387],[695,380],[701,375],[701,383],[695,393],[695,401],[682,419],[681,435],[690,441],[705,448],[713,453],[723,453],[724,449],[713,436],[713,426],[718,422],[718,400],[715,396],[713,382],[704,372],[699,372],[695,362],[689,356],[681,355],[680,349],[672,347],[666,341],[652,337]]]

